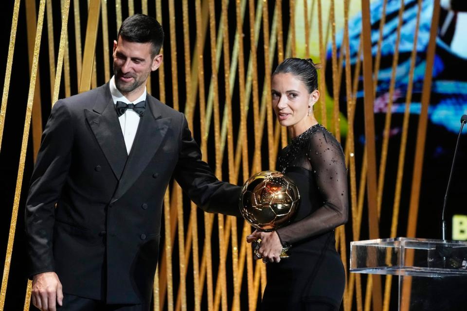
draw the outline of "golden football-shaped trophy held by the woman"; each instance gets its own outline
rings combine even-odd
[[[299,205],[297,186],[281,172],[263,171],[251,176],[240,193],[240,212],[243,218],[261,231],[274,231],[290,223]],[[255,255],[261,240],[253,242]],[[288,247],[282,249],[281,258],[287,258]]]

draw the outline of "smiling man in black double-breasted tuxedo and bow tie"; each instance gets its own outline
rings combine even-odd
[[[183,114],[146,93],[162,41],[154,18],[128,17],[110,82],[52,109],[26,206],[41,310],[149,310],[171,176],[205,211],[239,213],[239,187],[201,161]]]

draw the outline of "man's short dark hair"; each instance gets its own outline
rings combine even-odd
[[[152,43],[152,57],[161,51],[164,42],[161,24],[156,18],[144,14],[127,17],[118,31],[118,37],[120,36],[128,42]]]

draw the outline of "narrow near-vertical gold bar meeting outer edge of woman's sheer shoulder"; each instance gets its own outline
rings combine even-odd
[[[334,123],[334,135],[337,140],[341,141],[341,130],[339,128],[339,85],[337,69],[337,47],[336,47],[336,18],[334,12],[334,0],[331,0],[330,11],[330,23],[331,23],[331,39],[332,39],[332,91],[333,91],[333,123]]]

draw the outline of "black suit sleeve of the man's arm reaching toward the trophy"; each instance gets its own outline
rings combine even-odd
[[[216,178],[209,165],[201,160],[201,150],[191,135],[185,116],[181,122],[175,179],[190,199],[204,211],[241,216],[238,208],[241,188]]]

